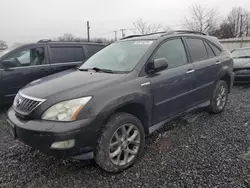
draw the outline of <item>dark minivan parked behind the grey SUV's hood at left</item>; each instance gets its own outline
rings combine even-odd
[[[0,56],[0,104],[12,103],[29,82],[82,64],[104,48],[99,43],[50,42],[22,45]]]

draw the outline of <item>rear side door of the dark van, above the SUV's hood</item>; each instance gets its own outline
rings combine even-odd
[[[83,46],[79,45],[49,45],[52,73],[61,72],[76,67],[86,60]]]

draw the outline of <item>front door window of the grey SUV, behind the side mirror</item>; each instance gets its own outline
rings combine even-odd
[[[165,42],[153,55],[153,59],[166,58],[168,68],[187,64],[187,54],[181,39],[173,39]]]

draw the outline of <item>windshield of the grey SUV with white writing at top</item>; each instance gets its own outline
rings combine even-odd
[[[88,59],[79,69],[132,71],[153,41],[121,41],[113,43]]]

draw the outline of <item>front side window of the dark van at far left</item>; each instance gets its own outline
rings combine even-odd
[[[15,52],[2,61],[4,67],[25,67],[44,64],[44,48],[32,48]]]

